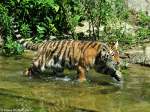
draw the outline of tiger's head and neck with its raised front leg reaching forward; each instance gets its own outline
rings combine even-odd
[[[122,81],[121,72],[119,72],[118,42],[109,45],[103,44],[96,57],[95,64],[97,65],[96,71],[109,74],[119,82]]]

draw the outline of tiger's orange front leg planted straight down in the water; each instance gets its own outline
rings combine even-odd
[[[79,78],[78,78],[79,82],[86,81],[86,77],[85,77],[86,69],[82,66],[78,66],[77,71],[78,71],[78,75],[79,75]]]

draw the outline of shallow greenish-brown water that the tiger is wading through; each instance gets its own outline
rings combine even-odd
[[[26,56],[0,56],[0,112],[150,112],[150,68],[131,65],[122,70],[123,87],[109,76],[88,73],[86,83],[22,76]],[[75,75],[75,72],[65,71]]]

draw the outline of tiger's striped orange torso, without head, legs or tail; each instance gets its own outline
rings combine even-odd
[[[35,65],[42,67],[92,66],[101,44],[91,41],[59,40],[47,41],[38,50]],[[43,63],[41,63],[43,62]],[[92,63],[93,62],[93,63]],[[41,68],[41,70],[44,70]]]

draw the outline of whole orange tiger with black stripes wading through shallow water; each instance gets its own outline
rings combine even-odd
[[[17,42],[27,49],[37,51],[37,56],[25,75],[34,76],[46,70],[63,72],[68,68],[76,70],[78,81],[84,82],[87,72],[93,68],[118,82],[122,81],[118,42],[108,45],[100,41],[47,40],[35,44],[23,39],[16,28],[14,25]]]

